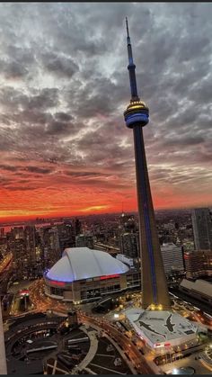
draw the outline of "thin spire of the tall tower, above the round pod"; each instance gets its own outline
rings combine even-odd
[[[136,78],[136,65],[133,62],[133,55],[132,55],[132,46],[129,37],[128,31],[128,17],[126,17],[126,27],[127,27],[127,43],[128,43],[128,75],[129,75],[129,83],[131,88],[131,99],[132,100],[139,100],[137,95],[137,78]]]

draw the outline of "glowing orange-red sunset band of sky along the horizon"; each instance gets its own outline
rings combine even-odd
[[[59,180],[58,180],[59,185]],[[199,201],[199,195],[185,196],[174,193],[172,188],[153,190],[155,210],[177,209],[205,206],[210,203],[210,195]],[[28,220],[36,217],[67,217],[93,213],[120,212],[122,202],[124,211],[137,211],[136,189],[121,191],[84,186],[80,189],[70,184],[36,190],[13,191],[1,190],[0,220]]]

